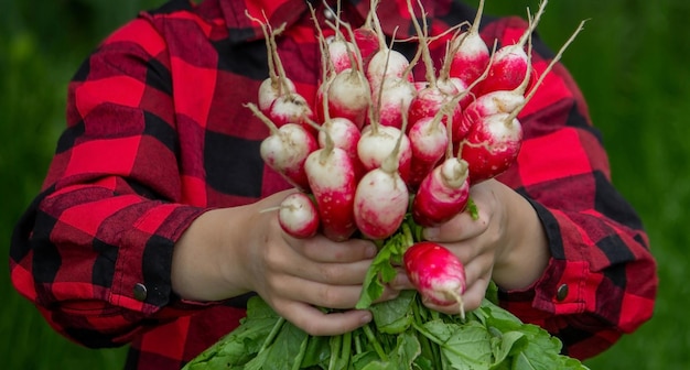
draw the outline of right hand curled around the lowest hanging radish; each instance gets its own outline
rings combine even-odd
[[[495,179],[474,185],[471,197],[478,219],[464,211],[448,222],[424,230],[424,238],[451,249],[465,265],[466,311],[477,308],[490,280],[507,290],[532,284],[549,260],[545,231],[531,205],[519,194]],[[405,273],[396,278],[396,289],[411,289]],[[456,314],[457,305],[432,309]]]

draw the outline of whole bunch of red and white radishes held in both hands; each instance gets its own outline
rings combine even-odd
[[[546,0],[517,43],[493,51],[478,33],[484,0],[470,28],[436,37],[427,34],[424,17],[422,24],[411,17],[419,42],[412,61],[386,43],[377,2],[364,25],[352,29],[336,19],[330,24],[335,36],[320,39],[323,75],[314,106],[282,68],[276,46],[282,29],[261,22],[270,76],[258,106],[247,106],[270,128],[261,143],[263,161],[301,191],[278,213],[293,237],[385,240],[407,215],[429,227],[464,211],[470,187],[516,160],[522,140],[518,112],[561,54],[533,76],[530,35]],[[408,9],[424,14],[420,2],[416,10],[408,0]],[[440,42],[445,58],[436,73],[430,45]],[[418,63],[425,80],[413,79]],[[422,296],[441,305],[462,303],[463,266],[445,248],[419,241],[408,249],[405,266]]]

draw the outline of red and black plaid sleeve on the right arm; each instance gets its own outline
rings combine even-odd
[[[525,26],[510,19],[494,32],[508,43]],[[533,50],[540,76],[553,54],[537,36]],[[525,322],[558,336],[564,352],[589,358],[651,317],[656,262],[638,215],[612,184],[601,134],[563,65],[546,76],[518,119],[522,148],[499,179],[537,210],[551,259],[532,286],[500,292],[499,298]]]

